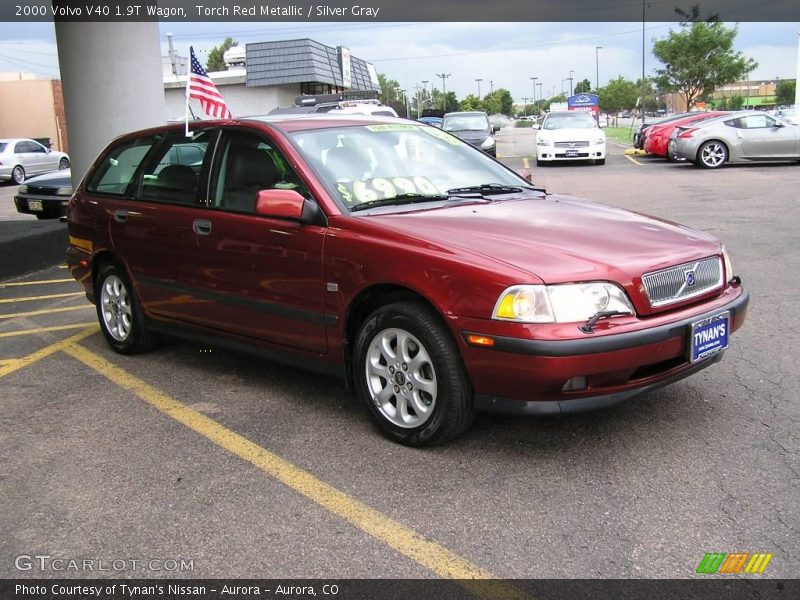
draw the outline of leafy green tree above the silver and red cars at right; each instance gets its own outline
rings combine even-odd
[[[679,31],[670,30],[653,44],[653,54],[664,65],[656,69],[658,86],[680,92],[688,110],[701,94],[710,96],[717,87],[742,79],[758,63],[733,50],[737,33],[736,27],[713,18],[685,21]]]

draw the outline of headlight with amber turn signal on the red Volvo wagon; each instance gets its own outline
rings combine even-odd
[[[500,294],[492,318],[519,323],[574,323],[600,311],[634,314],[622,288],[597,281],[512,286]]]

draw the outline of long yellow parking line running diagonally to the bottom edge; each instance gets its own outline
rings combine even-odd
[[[459,585],[483,598],[527,598],[524,593],[494,579],[494,575],[419,533],[296,467],[284,458],[223,427],[147,382],[74,343],[62,346],[66,354],[135,394],[154,408],[199,433],[217,446],[246,460],[315,504],[380,540],[442,577],[460,579]]]

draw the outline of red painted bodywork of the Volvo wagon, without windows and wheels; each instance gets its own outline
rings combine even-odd
[[[354,115],[335,125],[375,122],[383,121]],[[131,275],[151,319],[340,365],[353,343],[347,339],[351,309],[369,290],[392,286],[416,294],[442,316],[476,394],[527,402],[626,391],[680,374],[690,366],[688,330],[654,343],[575,356],[467,345],[466,332],[521,342],[587,339],[576,323],[493,320],[495,303],[509,286],[617,283],[636,315],[598,322],[592,339],[647,332],[725,310],[744,298],[733,284],[681,303],[650,306],[642,275],[719,255],[719,240],[707,233],[535,192],[502,201],[345,214],[285,137],[330,127],[330,120],[224,124],[269,134],[303,179],[325,224],[113,199],[89,194],[82,185],[70,202],[69,232],[91,242],[92,250],[71,244],[68,263],[90,297],[91,271],[80,260],[113,258]],[[154,131],[170,129],[176,128]],[[114,218],[120,210],[127,211],[124,222]],[[199,234],[193,227],[198,219],[210,231]],[[731,277],[725,274],[726,281]],[[731,330],[741,327],[744,316],[744,308],[733,315]],[[562,392],[565,381],[577,376],[588,377],[589,388]]]

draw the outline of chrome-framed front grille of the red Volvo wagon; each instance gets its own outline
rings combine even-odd
[[[711,256],[642,277],[650,306],[664,306],[722,286],[722,260]]]

